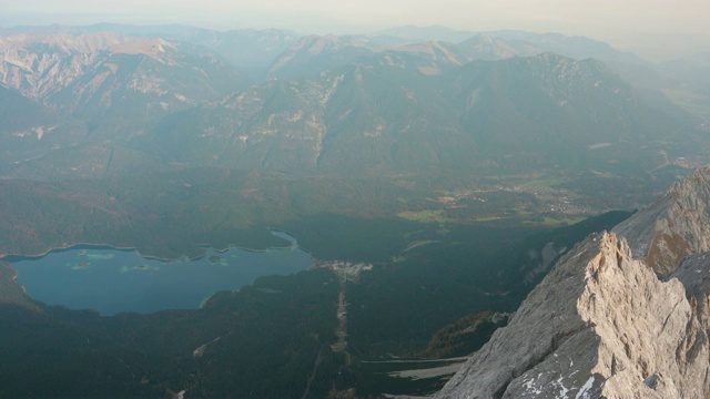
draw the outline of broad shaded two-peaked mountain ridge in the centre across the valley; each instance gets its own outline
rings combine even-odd
[[[398,55],[265,82],[165,119],[135,145],[171,162],[310,173],[639,172],[703,145],[594,60],[545,53],[430,75]]]

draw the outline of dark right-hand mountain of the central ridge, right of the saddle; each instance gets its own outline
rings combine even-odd
[[[504,167],[648,171],[663,163],[661,152],[689,150],[673,139],[689,133],[684,121],[647,105],[598,61],[546,53],[470,63],[455,78],[464,130]]]

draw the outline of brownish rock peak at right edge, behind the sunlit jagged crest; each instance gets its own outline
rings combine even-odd
[[[710,165],[671,186],[613,232],[662,276],[689,255],[710,250]]]

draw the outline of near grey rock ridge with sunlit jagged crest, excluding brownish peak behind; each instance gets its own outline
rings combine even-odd
[[[679,270],[660,280],[625,239],[589,236],[436,398],[708,397],[707,290],[687,297],[699,273]]]

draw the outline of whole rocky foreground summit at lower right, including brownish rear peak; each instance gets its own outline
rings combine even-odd
[[[577,244],[436,398],[710,396],[709,176]]]

